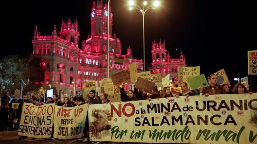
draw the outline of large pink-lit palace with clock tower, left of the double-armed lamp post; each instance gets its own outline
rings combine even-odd
[[[111,10],[110,10],[111,11]],[[82,42],[79,49],[79,26],[70,18],[67,23],[62,20],[59,32],[54,26],[52,35],[40,35],[37,26],[34,31],[33,54],[42,57],[46,67],[44,88],[56,87],[57,93],[73,92],[74,81],[76,90],[83,88],[84,81],[99,81],[107,77],[107,5],[102,1],[93,2],[91,11],[91,35]],[[129,68],[130,63],[136,63],[138,70],[143,69],[142,59],[132,58],[132,50],[127,48],[127,54],[121,54],[121,41],[112,34],[112,19],[110,13],[110,74]],[[116,64],[114,58],[123,57],[124,63]]]

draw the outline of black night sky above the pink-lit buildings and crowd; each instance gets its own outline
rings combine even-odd
[[[103,2],[107,3],[107,0]],[[142,6],[143,1],[136,3]],[[2,29],[10,35],[7,37],[10,42],[2,45],[1,57],[32,53],[35,25],[41,35],[51,35],[53,25],[60,30],[61,19],[67,22],[68,17],[72,23],[76,18],[79,22],[81,48],[82,40],[90,34],[92,5],[92,0],[20,1],[11,5],[3,13],[5,27]],[[183,51],[187,66],[200,65],[200,72],[206,77],[222,68],[230,82],[233,77],[247,76],[247,51],[257,49],[254,2],[162,0],[161,5],[145,14],[147,63],[152,62],[152,41],[162,39],[173,58]],[[126,54],[126,48],[131,46],[132,56],[143,59],[142,14],[136,9],[130,11],[125,0],[111,0],[111,7],[113,32],[121,40],[122,54]],[[256,76],[248,77],[249,83],[257,84]]]

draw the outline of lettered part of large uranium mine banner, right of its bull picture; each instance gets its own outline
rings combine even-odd
[[[257,143],[257,93],[111,104],[111,141]]]

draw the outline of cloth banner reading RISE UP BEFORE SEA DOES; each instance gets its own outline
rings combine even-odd
[[[55,106],[54,138],[81,138],[86,123],[88,104],[75,107]]]

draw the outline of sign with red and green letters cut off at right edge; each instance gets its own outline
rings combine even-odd
[[[257,50],[248,51],[248,74],[257,74]]]

